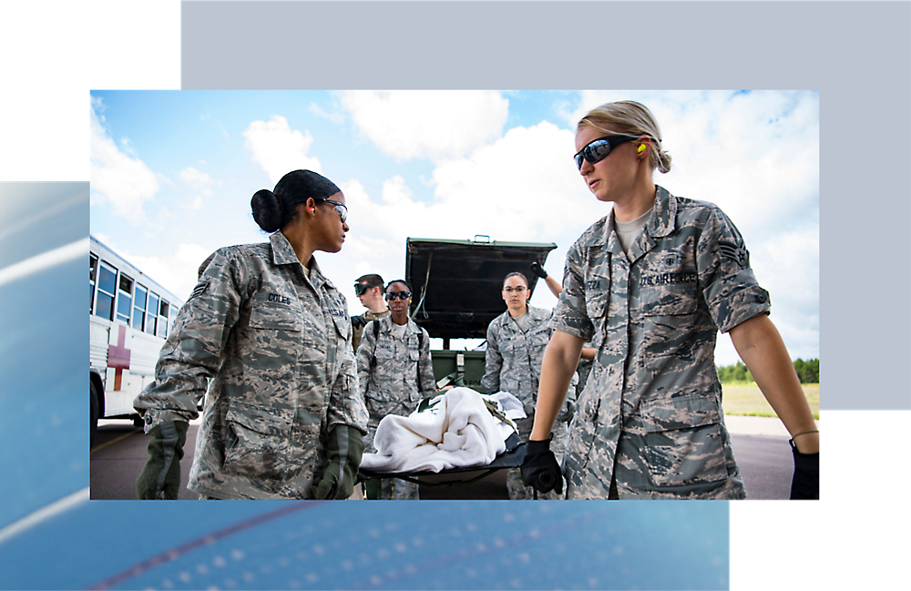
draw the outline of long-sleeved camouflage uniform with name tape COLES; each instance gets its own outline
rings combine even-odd
[[[279,232],[220,249],[133,402],[146,432],[203,412],[189,489],[222,499],[312,498],[335,425],[366,432],[344,296]]]

